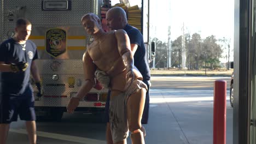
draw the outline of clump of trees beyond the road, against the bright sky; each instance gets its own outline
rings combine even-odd
[[[199,33],[185,34],[185,49],[183,49],[182,35],[177,37],[174,41],[171,41],[171,59],[172,67],[181,68],[182,50],[187,53],[186,66],[188,69],[200,69],[202,67],[210,67],[211,69],[218,69],[220,67],[219,59],[222,58],[223,49],[220,46],[218,40],[214,35],[211,35],[205,39],[201,38]],[[167,53],[167,45],[161,43],[165,50],[162,50],[161,56],[165,57]],[[228,45],[229,47],[229,45]],[[160,55],[160,53],[159,53]],[[161,59],[162,60],[162,59]],[[159,63],[160,63],[159,59]]]

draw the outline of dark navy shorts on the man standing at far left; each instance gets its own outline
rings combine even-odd
[[[4,91],[4,90],[3,90]],[[18,120],[36,121],[34,97],[31,86],[27,86],[22,94],[0,95],[0,123],[11,123]]]

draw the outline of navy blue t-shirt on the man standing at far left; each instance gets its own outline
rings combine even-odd
[[[11,64],[24,61],[28,63],[25,71],[1,73],[3,93],[22,94],[28,86],[31,62],[38,58],[38,52],[36,45],[31,40],[27,40],[24,47],[25,49],[22,49],[22,45],[16,43],[12,38],[5,40],[0,45],[0,62]]]

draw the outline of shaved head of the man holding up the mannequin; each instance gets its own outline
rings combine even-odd
[[[127,25],[127,17],[123,8],[114,7],[107,11],[107,25],[110,29],[123,29]]]

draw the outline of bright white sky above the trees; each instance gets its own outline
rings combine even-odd
[[[118,0],[112,0],[112,3]],[[139,0],[130,0],[135,5]],[[150,0],[150,37],[168,40],[168,26],[171,40],[184,33],[199,33],[202,39],[215,35],[217,39],[230,39],[233,49],[234,0]]]

